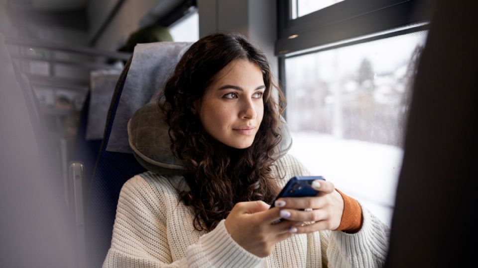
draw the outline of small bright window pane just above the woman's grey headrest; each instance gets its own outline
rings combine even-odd
[[[169,26],[174,42],[196,42],[199,40],[199,14],[195,9]]]

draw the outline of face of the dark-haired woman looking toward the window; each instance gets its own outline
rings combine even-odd
[[[194,112],[215,139],[234,148],[247,148],[262,121],[264,90],[260,68],[248,60],[235,60],[216,74],[195,103]]]

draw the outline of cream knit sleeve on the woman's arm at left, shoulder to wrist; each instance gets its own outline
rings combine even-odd
[[[128,180],[119,194],[111,248],[103,268],[255,267],[261,258],[244,250],[229,235],[224,220],[172,262],[164,204],[140,177]],[[158,201],[159,200],[159,201]]]

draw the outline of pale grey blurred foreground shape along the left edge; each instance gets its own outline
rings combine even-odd
[[[0,267],[76,267],[59,166],[19,77],[0,34]]]

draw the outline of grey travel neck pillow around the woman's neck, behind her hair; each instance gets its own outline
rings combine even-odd
[[[277,158],[284,156],[292,146],[289,127],[281,118],[281,142]],[[157,103],[148,103],[137,110],[127,125],[129,146],[134,157],[147,170],[160,175],[184,175],[188,164],[171,151],[171,139],[166,115]]]

